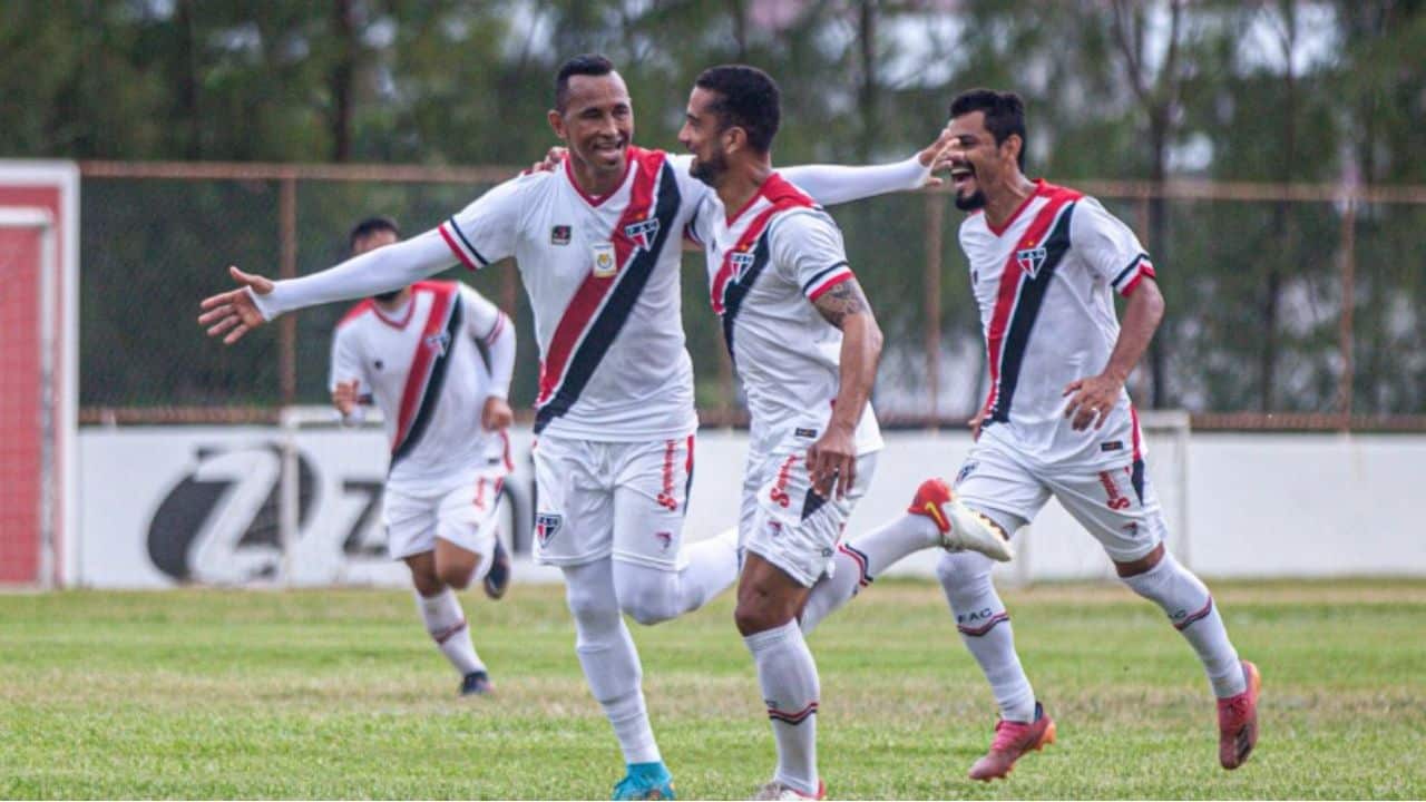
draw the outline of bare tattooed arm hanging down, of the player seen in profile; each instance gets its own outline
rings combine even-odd
[[[857,478],[857,424],[871,400],[881,360],[881,328],[871,304],[856,278],[846,278],[823,293],[813,305],[827,323],[841,330],[841,372],[837,401],[827,431],[807,450],[807,472],[813,487],[846,497]]]

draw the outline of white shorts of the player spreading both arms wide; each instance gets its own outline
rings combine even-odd
[[[647,442],[540,437],[535,445],[535,559],[613,557],[677,571],[693,482],[693,435]]]

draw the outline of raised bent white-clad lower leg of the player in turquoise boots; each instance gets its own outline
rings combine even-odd
[[[619,608],[639,624],[699,609],[737,581],[737,529],[690,544],[677,571],[613,561]]]

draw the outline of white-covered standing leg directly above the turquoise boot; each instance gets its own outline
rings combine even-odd
[[[565,597],[575,616],[575,652],[585,679],[615,729],[626,763],[662,761],[643,701],[643,669],[619,612],[609,559],[565,568]]]

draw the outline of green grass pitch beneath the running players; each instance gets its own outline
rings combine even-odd
[[[1426,582],[1216,584],[1263,672],[1262,741],[1224,772],[1186,644],[1119,587],[1007,591],[1060,728],[971,783],[994,705],[938,588],[878,582],[811,638],[834,798],[1426,796]],[[466,597],[498,695],[389,591],[0,595],[0,798],[607,798],[622,775],[556,587]],[[689,799],[737,799],[773,743],[730,599],[633,626]]]

